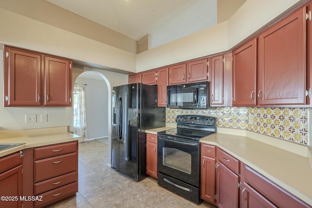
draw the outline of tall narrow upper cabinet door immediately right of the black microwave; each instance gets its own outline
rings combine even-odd
[[[223,55],[211,58],[211,104],[223,104]]]

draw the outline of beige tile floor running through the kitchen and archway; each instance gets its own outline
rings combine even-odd
[[[211,208],[194,204],[157,185],[140,182],[107,166],[107,140],[79,142],[78,193],[53,208]]]

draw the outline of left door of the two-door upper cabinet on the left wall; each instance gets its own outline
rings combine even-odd
[[[41,104],[41,55],[4,48],[4,106]]]

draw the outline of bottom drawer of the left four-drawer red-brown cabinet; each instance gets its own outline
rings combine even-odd
[[[74,182],[59,189],[51,190],[49,192],[40,194],[40,196],[42,196],[41,201],[35,201],[35,208],[42,207],[52,202],[58,201],[62,198],[70,196],[71,194],[75,194],[77,191],[78,184],[77,182]]]

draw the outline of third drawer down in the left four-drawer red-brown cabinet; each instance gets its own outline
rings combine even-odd
[[[55,177],[46,181],[39,182],[34,185],[34,195],[59,188],[66,184],[76,182],[78,180],[77,171],[71,172],[59,177]]]

